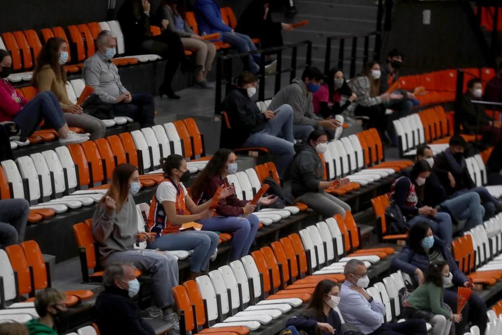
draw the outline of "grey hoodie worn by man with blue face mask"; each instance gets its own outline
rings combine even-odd
[[[305,82],[301,79],[293,79],[291,84],[277,92],[269,109],[276,110],[285,103],[293,108],[293,124],[295,125],[308,125],[317,128],[319,121],[323,120],[314,114],[312,93],[307,92]]]

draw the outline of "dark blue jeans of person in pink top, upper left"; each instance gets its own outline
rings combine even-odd
[[[60,130],[66,124],[59,101],[51,91],[35,95],[12,118],[12,121],[21,128],[21,136],[24,137],[31,136],[42,120],[45,120],[55,130]]]

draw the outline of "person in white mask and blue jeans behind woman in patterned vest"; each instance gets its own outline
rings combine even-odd
[[[417,147],[417,161],[427,161],[431,168],[434,166],[434,157],[431,147],[421,144]],[[481,199],[476,192],[467,192],[459,196],[448,199],[446,190],[439,182],[437,172],[432,170],[425,180],[422,202],[432,208],[438,207],[440,211],[449,213],[457,220],[465,219],[463,231],[468,231],[477,225],[483,224],[484,207],[481,206]],[[455,183],[453,175],[449,171],[443,172],[450,180],[450,186]]]

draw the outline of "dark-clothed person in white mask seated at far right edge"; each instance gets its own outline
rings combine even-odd
[[[482,135],[485,144],[497,143],[500,128],[493,127],[491,118],[486,114],[486,105],[473,100],[483,100],[483,85],[478,78],[467,82],[467,91],[462,97],[461,123],[468,133]]]

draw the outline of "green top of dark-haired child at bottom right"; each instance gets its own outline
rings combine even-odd
[[[420,285],[408,298],[408,303],[415,309],[426,309],[436,315],[450,319],[451,312],[443,307],[443,288],[433,283]]]

